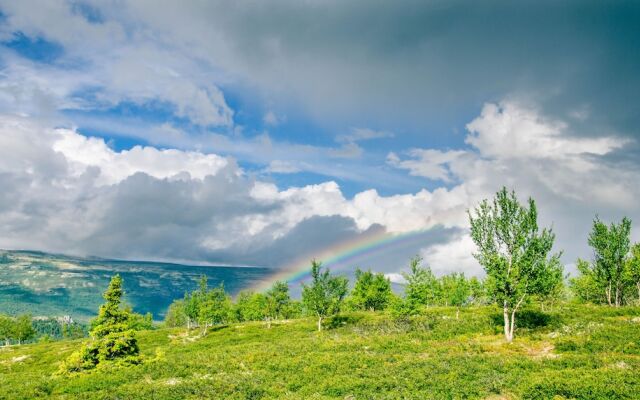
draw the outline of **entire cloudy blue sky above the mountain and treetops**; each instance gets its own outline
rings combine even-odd
[[[0,0],[0,248],[282,268],[341,243],[482,275],[533,197],[571,271],[640,241],[640,3]],[[377,236],[376,236],[377,237]],[[355,265],[358,263],[358,265]]]

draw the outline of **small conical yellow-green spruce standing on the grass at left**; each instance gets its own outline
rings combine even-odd
[[[61,373],[93,369],[105,362],[129,365],[141,361],[133,327],[144,326],[145,319],[134,318],[130,309],[122,307],[123,295],[122,278],[116,275],[103,294],[105,303],[91,322],[92,340],[61,364]],[[150,320],[151,316],[147,318]]]

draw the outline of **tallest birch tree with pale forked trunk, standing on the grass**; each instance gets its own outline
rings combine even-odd
[[[515,192],[502,188],[493,203],[484,200],[469,212],[471,238],[478,248],[474,257],[487,273],[487,286],[503,308],[504,335],[513,340],[516,313],[527,296],[552,286],[562,277],[560,254],[549,256],[555,235],[538,228],[533,199],[528,207],[518,202]],[[558,273],[560,270],[560,273]]]

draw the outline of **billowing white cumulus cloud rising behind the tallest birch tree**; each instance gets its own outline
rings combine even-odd
[[[556,246],[565,250],[567,263],[588,256],[586,236],[596,214],[640,220],[634,201],[640,196],[634,184],[640,180],[640,169],[607,158],[630,145],[630,139],[583,138],[565,121],[509,101],[486,104],[467,129],[468,149],[414,150],[408,159],[389,156],[391,165],[412,174],[456,182],[448,190],[433,192],[440,191],[442,204],[458,205],[449,209],[448,217],[442,212],[436,215],[463,230],[448,243],[423,251],[434,269],[479,271],[471,257],[464,211],[503,185],[515,189],[523,200],[526,196],[537,200],[541,222],[553,226]],[[637,231],[634,238],[640,238]]]

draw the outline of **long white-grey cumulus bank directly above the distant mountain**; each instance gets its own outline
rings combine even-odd
[[[0,184],[4,248],[277,267],[374,227],[411,228],[335,182],[280,190],[215,154],[116,151],[19,116],[0,118]]]

